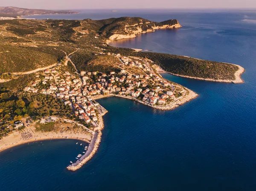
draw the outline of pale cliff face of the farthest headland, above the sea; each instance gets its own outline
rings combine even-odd
[[[124,29],[121,31],[116,31],[116,34],[112,34],[109,40],[119,40],[125,38],[134,38],[136,34],[142,34],[147,32],[154,32],[158,29],[176,29],[182,27],[177,21],[175,24],[160,25],[160,23],[148,22],[148,23],[138,23],[132,26],[125,25]]]

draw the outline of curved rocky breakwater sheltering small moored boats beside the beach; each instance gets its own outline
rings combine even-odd
[[[67,167],[68,170],[70,171],[76,171],[79,168],[81,168],[84,164],[86,164],[92,157],[93,155],[97,152],[99,144],[101,142],[101,137],[102,137],[102,129],[104,128],[104,123],[102,116],[99,116],[99,126],[95,133],[93,134],[92,140],[89,144],[87,152],[75,163],[72,165],[69,165]]]

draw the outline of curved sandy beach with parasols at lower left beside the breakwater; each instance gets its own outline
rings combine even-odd
[[[29,132],[32,133],[32,136],[33,136],[32,139],[23,140],[21,137],[21,132],[16,131],[12,134],[9,134],[7,137],[3,137],[3,139],[0,140],[0,151],[6,150],[8,148],[11,148],[17,145],[35,142],[39,140],[65,139],[65,137],[68,137],[68,139],[81,140],[86,143],[90,143],[90,140],[91,140],[91,134],[38,132],[32,128],[28,128],[28,129],[29,129]]]

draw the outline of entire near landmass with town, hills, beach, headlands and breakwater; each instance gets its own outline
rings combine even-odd
[[[162,72],[216,82],[243,83],[244,68],[229,63],[116,48],[111,40],[157,29],[177,20],[140,17],[105,20],[0,20],[0,150],[44,139],[90,142],[67,168],[75,171],[101,141],[102,97],[120,97],[170,110],[198,94],[164,79]]]

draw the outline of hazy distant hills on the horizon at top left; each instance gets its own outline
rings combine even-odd
[[[17,17],[32,14],[74,14],[74,11],[52,11],[44,9],[24,9],[18,7],[0,7],[0,17]]]

